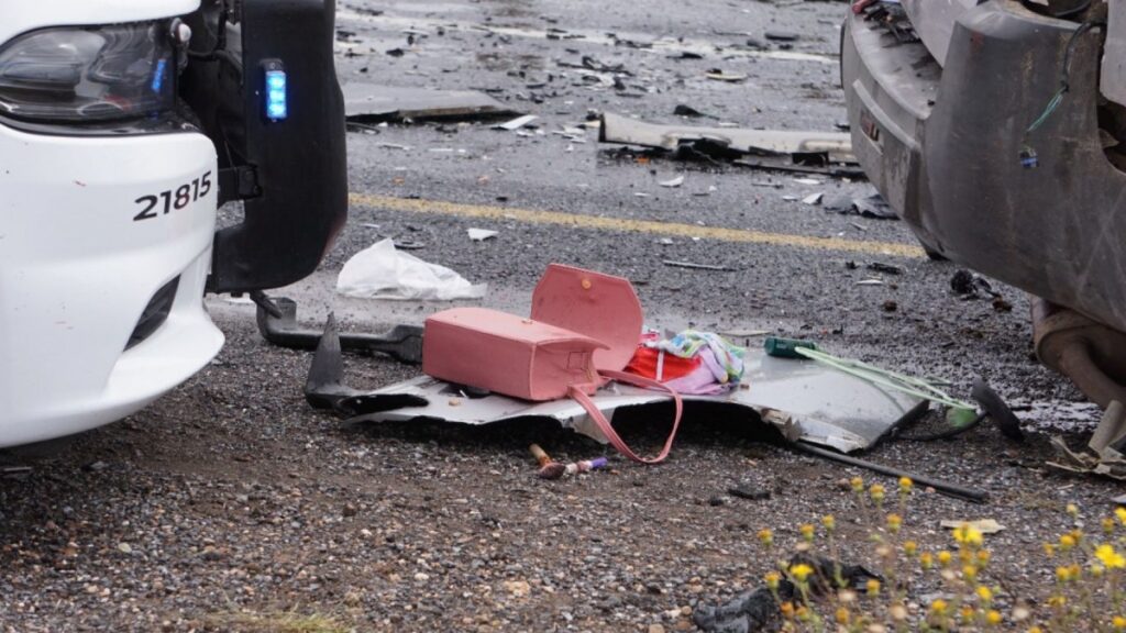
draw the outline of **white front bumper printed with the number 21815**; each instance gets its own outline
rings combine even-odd
[[[120,419],[214,357],[223,335],[203,293],[216,181],[202,134],[0,125],[0,447]]]

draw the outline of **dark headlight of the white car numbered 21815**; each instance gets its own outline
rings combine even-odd
[[[0,47],[0,115],[35,123],[140,118],[176,105],[170,20],[47,28]]]

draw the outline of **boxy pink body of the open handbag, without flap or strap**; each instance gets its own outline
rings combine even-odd
[[[426,320],[422,372],[524,400],[555,400],[598,382],[592,356],[607,346],[533,319],[457,307]]]

